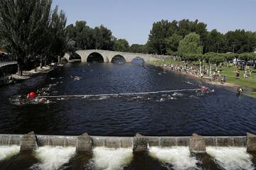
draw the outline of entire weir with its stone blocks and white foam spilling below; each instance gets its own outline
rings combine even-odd
[[[204,147],[205,152],[191,154],[193,149],[196,149],[195,145],[201,145],[201,149]],[[33,159],[36,158],[38,163],[31,164],[31,169],[61,169],[65,164],[75,167],[76,160],[81,162],[83,168],[115,170],[124,166],[134,166],[134,162],[138,161],[138,155],[145,155],[137,154],[137,151],[144,150],[146,155],[152,158],[146,156],[145,159],[151,162],[158,160],[159,164],[171,165],[172,169],[198,169],[200,164],[208,165],[207,162],[201,162],[200,155],[210,157],[214,166],[223,169],[254,169],[252,154],[248,152],[248,148],[255,148],[255,135],[102,137],[89,136],[87,133],[80,136],[60,136],[35,135],[30,132],[26,135],[0,135],[0,162],[8,162],[10,157],[16,159],[16,154],[27,155],[24,151],[32,151]],[[86,159],[81,160],[81,155]]]

